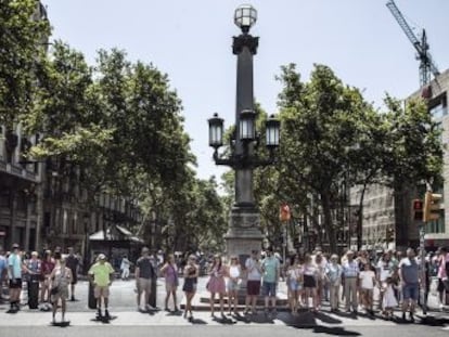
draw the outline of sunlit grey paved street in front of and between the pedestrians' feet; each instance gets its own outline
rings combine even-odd
[[[200,293],[197,295],[196,306],[207,304],[200,303],[200,297],[206,296],[201,291],[205,288],[205,277],[200,280]],[[133,281],[116,281],[112,287],[111,313],[116,317],[108,324],[94,321],[94,311],[87,307],[87,282],[80,282],[77,287],[78,301],[68,302],[67,320],[70,326],[64,329],[64,336],[75,336],[87,332],[90,336],[98,334],[100,336],[143,336],[147,334],[147,326],[152,326],[152,335],[158,336],[164,333],[165,336],[191,336],[198,335],[220,336],[223,332],[228,335],[232,329],[233,336],[291,336],[297,334],[299,328],[302,335],[316,336],[317,333],[328,335],[347,335],[347,336],[380,336],[382,332],[388,333],[395,330],[400,336],[419,336],[432,332],[433,336],[448,336],[449,314],[441,312],[431,312],[429,317],[418,320],[416,324],[403,323],[399,319],[390,322],[381,317],[370,319],[359,314],[350,316],[346,314],[331,314],[326,306],[323,311],[317,314],[302,312],[298,316],[292,316],[288,312],[280,311],[275,319],[265,317],[260,312],[257,316],[245,319],[243,316],[226,319],[214,319],[207,310],[196,311],[193,322],[182,317],[180,312],[169,313],[165,311],[154,311],[152,313],[140,313],[137,311],[136,295]],[[280,286],[280,297],[284,296],[285,284]],[[164,308],[165,287],[163,280],[158,281],[157,286],[157,306]],[[182,293],[179,291],[178,300],[182,299]],[[282,309],[282,308],[281,308]],[[61,336],[61,328],[50,326],[51,313],[40,310],[29,310],[23,306],[21,312],[8,314],[8,304],[0,304],[0,334],[1,336],[26,336],[33,334],[39,336]],[[399,313],[396,313],[399,316]],[[424,317],[418,314],[419,317]],[[167,328],[169,326],[170,328]],[[189,328],[185,328],[188,327]],[[89,327],[89,330],[87,330]],[[221,328],[220,328],[221,327]]]

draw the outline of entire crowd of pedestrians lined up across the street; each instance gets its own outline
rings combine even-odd
[[[197,256],[190,255],[182,269],[174,255],[164,259],[150,254],[144,247],[136,263],[124,257],[120,269],[121,278],[128,280],[129,267],[134,264],[137,308],[139,311],[151,310],[150,295],[152,283],[162,276],[165,281],[165,310],[179,311],[177,291],[180,277],[183,278],[182,291],[185,296],[183,316],[193,320],[192,299],[197,290],[201,267]],[[425,265],[424,272],[421,265]],[[75,300],[75,286],[80,267],[80,258],[73,248],[66,254],[61,248],[46,250],[40,258],[37,251],[26,257],[18,245],[13,245],[7,255],[0,251],[0,280],[9,283],[10,311],[20,310],[20,295],[23,281],[39,282],[39,301],[50,303],[53,322],[57,308],[61,308],[62,321],[65,320],[66,301]],[[110,317],[110,286],[114,280],[114,268],[104,254],[98,255],[88,270],[97,300],[98,316]],[[271,248],[266,251],[253,250],[246,259],[231,256],[229,260],[216,255],[208,263],[206,289],[210,294],[210,315],[216,316],[216,300],[220,314],[224,316],[239,313],[239,289],[246,283],[246,298],[242,314],[257,313],[257,299],[264,297],[264,312],[268,316],[277,314],[277,291],[279,282],[285,282],[288,309],[293,315],[299,310],[317,312],[323,301],[329,301],[331,312],[344,310],[357,314],[363,310],[373,315],[380,310],[386,319],[393,319],[394,310],[400,306],[402,320],[414,321],[414,310],[420,299],[420,289],[428,294],[431,277],[438,278],[438,299],[442,307],[449,291],[449,254],[440,248],[436,254],[428,254],[422,263],[414,249],[402,251],[360,250],[346,251],[342,256],[328,255],[321,249],[311,254],[293,254],[282,261],[279,254]],[[379,308],[374,308],[374,293],[379,293]],[[228,300],[226,301],[226,297]],[[172,302],[169,309],[169,302]],[[426,301],[426,298],[421,299]],[[227,308],[224,303],[227,302]],[[423,304],[423,302],[421,303]]]

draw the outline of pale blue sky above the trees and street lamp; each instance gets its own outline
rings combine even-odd
[[[363,91],[382,108],[385,92],[405,99],[419,89],[415,51],[393,17],[387,0],[41,0],[52,39],[81,51],[93,64],[99,49],[118,48],[129,60],[152,63],[168,75],[182,100],[184,129],[197,158],[197,177],[219,178],[208,147],[207,119],[214,113],[234,122],[240,34],[234,10],[251,3],[258,12],[251,34],[259,37],[254,56],[255,99],[278,112],[280,67],[297,64],[307,80],[313,64],[330,66],[344,83]],[[415,34],[426,29],[440,72],[449,68],[449,0],[396,0]],[[282,141],[282,140],[281,140]]]

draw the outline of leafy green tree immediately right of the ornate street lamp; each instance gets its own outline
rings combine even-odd
[[[285,174],[304,186],[298,190],[315,196],[321,206],[323,229],[315,225],[318,233],[324,230],[331,251],[336,251],[337,228],[332,210],[346,172],[347,148],[355,144],[358,121],[365,119],[367,103],[359,90],[343,85],[323,65],[316,65],[307,83],[300,81],[292,64],[282,67],[280,80],[284,87],[279,101],[280,164]]]

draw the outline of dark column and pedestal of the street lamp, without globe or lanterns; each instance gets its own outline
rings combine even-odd
[[[235,106],[235,145],[236,158],[249,158],[254,145],[240,138],[240,116],[243,111],[254,111],[253,55],[256,54],[258,38],[244,31],[234,37],[232,50],[238,55],[236,66],[236,106]],[[252,250],[260,250],[262,234],[260,216],[255,207],[253,194],[253,166],[242,159],[234,166],[235,204],[231,209],[229,230],[224,238],[228,256],[238,256],[241,261]]]

